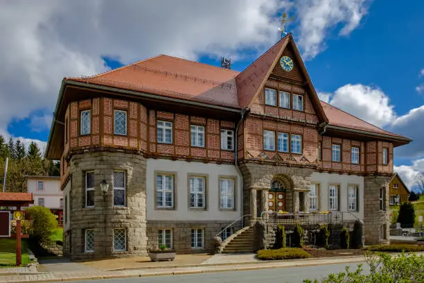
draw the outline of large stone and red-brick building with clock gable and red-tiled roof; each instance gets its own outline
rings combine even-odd
[[[257,221],[302,223],[314,243],[308,227],[360,218],[387,243],[393,148],[410,141],[319,101],[289,34],[241,73],[159,55],[64,78],[46,157],[64,255],[92,259],[200,252],[242,226],[224,252],[254,250]]]

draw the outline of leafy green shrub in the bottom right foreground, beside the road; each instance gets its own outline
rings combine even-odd
[[[357,266],[356,271],[349,271],[346,266],[344,272],[330,274],[318,281],[303,280],[303,283],[412,283],[424,282],[424,256],[415,254],[402,254],[391,257],[385,254],[366,254],[366,263],[370,272],[362,274],[362,264]]]

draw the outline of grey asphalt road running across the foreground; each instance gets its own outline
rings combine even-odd
[[[327,276],[330,273],[338,273],[344,271],[345,266],[350,266],[350,270],[356,269],[355,264],[328,264],[321,266],[303,266],[291,268],[272,268],[260,269],[256,271],[233,271],[223,273],[204,273],[193,275],[173,275],[173,276],[158,276],[158,277],[136,277],[125,279],[110,279],[110,280],[89,280],[78,281],[81,283],[301,283],[303,279],[315,279]],[[364,263],[362,265],[364,271],[368,272],[369,268]]]

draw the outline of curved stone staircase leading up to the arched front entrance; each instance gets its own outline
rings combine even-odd
[[[240,230],[234,237],[224,243],[223,253],[242,253],[255,251],[254,228],[247,227]]]

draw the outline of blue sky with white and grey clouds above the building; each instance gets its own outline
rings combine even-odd
[[[45,147],[60,83],[154,55],[242,71],[279,40],[279,16],[321,100],[414,139],[395,149],[424,172],[424,1],[6,0],[0,9],[0,133]]]

